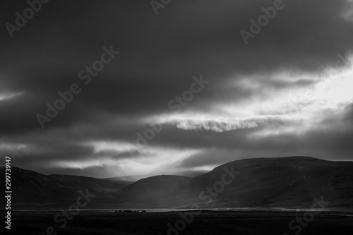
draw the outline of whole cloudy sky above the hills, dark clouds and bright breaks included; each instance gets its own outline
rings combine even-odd
[[[246,44],[241,30],[274,2],[52,0],[11,37],[6,23],[28,4],[6,1],[0,155],[96,177],[353,160],[353,2],[284,0]],[[72,85],[80,92],[50,118]]]

